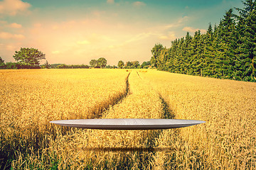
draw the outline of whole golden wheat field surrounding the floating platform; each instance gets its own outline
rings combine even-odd
[[[146,69],[0,70],[0,169],[256,169],[256,84]],[[85,130],[80,118],[177,118]]]

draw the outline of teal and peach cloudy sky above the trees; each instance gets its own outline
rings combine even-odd
[[[0,57],[15,62],[21,47],[37,48],[50,64],[89,64],[105,57],[149,61],[156,43],[205,33],[240,0],[4,0],[0,1]],[[42,60],[41,64],[46,60]]]

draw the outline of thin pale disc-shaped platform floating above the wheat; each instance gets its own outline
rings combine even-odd
[[[156,130],[183,128],[191,125],[206,123],[201,120],[181,119],[77,119],[54,120],[50,123],[73,128],[102,129],[102,130]]]

